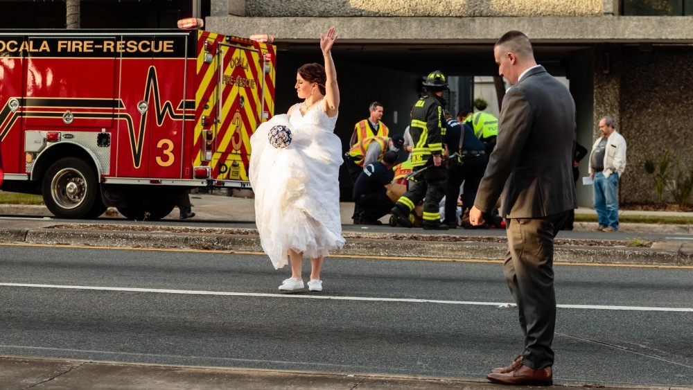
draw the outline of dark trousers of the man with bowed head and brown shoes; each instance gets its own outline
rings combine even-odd
[[[520,327],[525,335],[523,364],[536,370],[554,364],[554,237],[566,218],[568,211],[544,218],[506,219],[508,252],[503,273],[518,305]],[[538,240],[524,242],[523,237]]]

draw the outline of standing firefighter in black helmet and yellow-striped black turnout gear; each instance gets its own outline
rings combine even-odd
[[[392,208],[392,215],[405,227],[413,224],[409,215],[416,204],[423,203],[423,229],[448,230],[448,225],[440,222],[439,204],[446,193],[447,171],[443,162],[445,136],[445,100],[443,91],[448,89],[448,81],[440,71],[433,71],[423,81],[426,95],[420,98],[412,109],[412,168],[416,180]]]

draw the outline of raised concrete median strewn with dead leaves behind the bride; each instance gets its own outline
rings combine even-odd
[[[382,236],[382,235],[380,235]],[[233,233],[200,233],[186,229],[179,233],[87,231],[78,229],[0,229],[2,242],[44,245],[110,246],[152,249],[193,249],[262,252],[260,238],[252,229]],[[666,242],[651,248],[556,245],[555,262],[638,265],[693,265],[693,243]],[[446,242],[378,239],[377,233],[347,236],[338,256],[387,256],[411,260],[503,260],[505,243]],[[425,254],[425,256],[422,256]]]

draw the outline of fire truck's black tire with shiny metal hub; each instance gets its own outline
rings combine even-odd
[[[55,161],[46,171],[42,183],[46,207],[58,218],[96,218],[105,211],[94,169],[76,157]],[[99,206],[100,204],[100,206]]]

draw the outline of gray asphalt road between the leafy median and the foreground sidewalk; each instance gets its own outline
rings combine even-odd
[[[500,263],[0,245],[0,355],[484,378],[521,347]],[[556,384],[693,385],[693,269],[556,266]],[[85,288],[76,288],[82,286]]]

